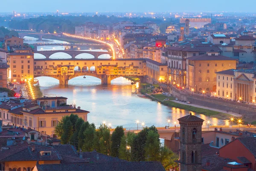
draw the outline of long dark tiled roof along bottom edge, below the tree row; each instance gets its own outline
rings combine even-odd
[[[160,162],[114,162],[36,165],[38,171],[165,171]]]

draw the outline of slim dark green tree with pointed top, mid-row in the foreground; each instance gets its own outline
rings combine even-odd
[[[119,156],[119,148],[121,144],[121,138],[125,135],[124,129],[122,126],[117,126],[111,136],[111,156]]]

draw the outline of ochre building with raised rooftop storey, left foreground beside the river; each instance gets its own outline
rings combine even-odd
[[[56,137],[54,127],[61,118],[70,114],[79,115],[87,121],[86,110],[67,105],[65,97],[43,97],[37,99],[37,104],[18,103],[9,101],[0,104],[0,118],[4,124],[11,124],[23,128],[33,128],[38,132],[45,132]]]

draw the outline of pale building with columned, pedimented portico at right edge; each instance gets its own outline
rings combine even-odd
[[[256,76],[253,69],[217,72],[216,96],[236,101],[256,101]]]

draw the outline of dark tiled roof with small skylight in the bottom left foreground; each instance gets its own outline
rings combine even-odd
[[[35,151],[32,151],[31,146],[26,146],[26,149],[16,151],[17,153],[12,154],[0,161],[46,161],[46,160],[62,160],[62,157],[58,152],[49,147],[35,146]],[[51,151],[51,155],[42,156],[40,151]]]

